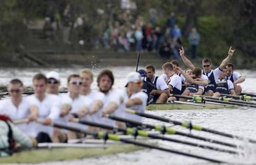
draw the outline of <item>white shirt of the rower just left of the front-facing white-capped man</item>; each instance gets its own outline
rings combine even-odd
[[[36,98],[35,94],[28,96],[30,106],[38,107],[38,119],[45,119],[49,117],[51,120],[56,121],[61,112],[61,99],[57,95],[45,94],[43,101]],[[36,137],[39,132],[48,133],[49,136],[53,135],[53,127],[48,125],[41,125],[37,122],[30,122],[30,133],[32,137]]]

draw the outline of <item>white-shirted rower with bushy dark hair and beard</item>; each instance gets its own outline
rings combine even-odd
[[[111,126],[118,125],[119,127],[125,127],[124,123],[116,122],[105,117],[107,114],[124,117],[124,107],[119,107],[124,101],[124,96],[122,90],[112,88],[114,85],[113,72],[108,69],[101,70],[98,74],[97,83],[99,90],[105,95],[101,118],[98,122]]]

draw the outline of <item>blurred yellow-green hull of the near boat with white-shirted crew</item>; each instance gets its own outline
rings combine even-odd
[[[108,141],[111,142],[111,141]],[[99,140],[98,146],[95,144],[75,144],[70,147],[53,147],[40,148],[37,150],[25,150],[12,154],[12,156],[0,158],[0,164],[2,163],[43,163],[50,161],[67,161],[72,159],[92,158],[95,156],[105,156],[117,153],[128,153],[132,151],[142,150],[140,146],[129,145],[125,143],[108,143],[103,144],[103,140]]]

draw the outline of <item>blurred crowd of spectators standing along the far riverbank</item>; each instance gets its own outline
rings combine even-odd
[[[96,38],[98,41],[95,43],[100,43],[104,48],[115,49],[119,52],[140,51],[140,53],[144,53],[151,51],[161,57],[169,59],[173,56],[179,59],[179,48],[181,48],[183,38],[175,13],[171,12],[169,18],[166,19],[164,28],[156,24],[155,11],[151,11],[149,15],[147,20],[142,15],[131,14],[127,11],[111,15],[104,30],[99,32],[99,37]],[[87,44],[85,40],[90,39],[90,30],[92,29],[87,16],[80,14],[77,18],[74,18],[74,12],[69,4],[67,4],[61,16],[63,43],[72,44],[74,40],[70,40],[70,34],[75,34],[77,36],[75,43]],[[44,34],[47,40],[54,40],[52,20],[51,17],[45,19]],[[190,54],[194,59],[197,57],[197,47],[200,41],[200,35],[196,28],[191,30],[188,39]],[[93,46],[96,46],[96,44]]]

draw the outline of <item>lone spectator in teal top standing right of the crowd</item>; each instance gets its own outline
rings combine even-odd
[[[189,33],[189,44],[191,46],[191,57],[195,59],[197,57],[197,46],[200,41],[200,35],[197,33],[196,28],[192,28]]]

